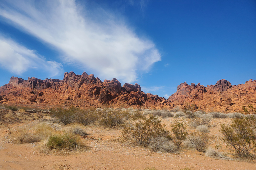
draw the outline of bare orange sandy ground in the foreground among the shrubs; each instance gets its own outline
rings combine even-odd
[[[175,118],[162,119],[170,129]],[[230,152],[220,140],[220,124],[229,124],[231,119],[213,119],[214,127],[210,134],[214,136],[211,144],[222,144],[223,152]],[[184,120],[188,121],[188,120]],[[92,138],[83,138],[88,149],[71,154],[46,153],[43,142],[14,144],[17,128],[31,129],[40,120],[28,123],[12,123],[0,127],[0,169],[3,170],[144,170],[155,167],[157,170],[255,170],[255,160],[221,160],[206,156],[194,149],[182,148],[176,153],[152,152],[148,148],[120,142],[121,128],[85,127]],[[57,125],[58,126],[58,125]],[[63,128],[59,126],[59,128]],[[190,129],[192,130],[192,129]],[[101,140],[97,140],[101,138]],[[95,140],[96,139],[96,140]]]

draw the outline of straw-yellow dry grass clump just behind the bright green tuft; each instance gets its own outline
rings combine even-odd
[[[35,134],[40,140],[47,139],[55,133],[55,130],[46,122],[42,122],[35,126]]]

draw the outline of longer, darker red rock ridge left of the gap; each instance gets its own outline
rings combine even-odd
[[[2,90],[13,90],[14,87],[17,89],[11,95],[12,101],[26,104],[56,105],[62,103],[85,107],[101,107],[102,105],[140,107],[145,106],[147,101],[147,95],[141,91],[141,87],[137,83],[135,85],[125,83],[122,87],[115,78],[102,82],[98,77],[95,78],[93,74],[88,75],[86,72],[83,72],[82,75],[65,72],[63,80],[40,80],[35,77],[24,80],[12,77]],[[161,104],[161,102],[160,99],[159,103]],[[155,104],[155,102],[153,103]],[[152,105],[150,102],[148,104]]]

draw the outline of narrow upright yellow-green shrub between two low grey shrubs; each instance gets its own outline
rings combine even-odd
[[[179,149],[188,135],[186,123],[176,121],[175,124],[172,125],[172,132],[174,133],[172,141],[176,145],[177,149]]]

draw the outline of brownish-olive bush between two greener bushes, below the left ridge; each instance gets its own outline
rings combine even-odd
[[[84,126],[92,124],[100,119],[98,112],[99,110],[97,111],[97,109],[96,112],[94,112],[94,110],[92,109],[79,110],[75,115],[74,122],[77,122]]]

